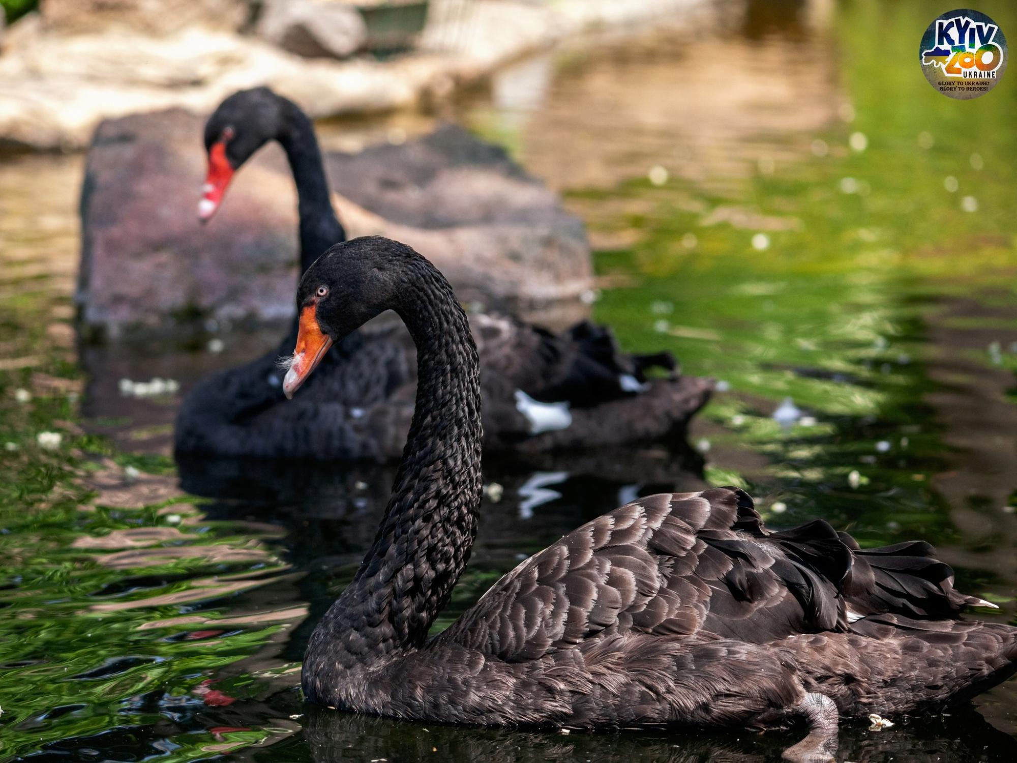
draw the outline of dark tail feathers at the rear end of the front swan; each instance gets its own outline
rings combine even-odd
[[[997,608],[956,591],[953,570],[924,541],[861,549],[847,533],[840,538],[854,556],[843,586],[850,622],[884,612],[937,620],[956,618],[965,606]]]

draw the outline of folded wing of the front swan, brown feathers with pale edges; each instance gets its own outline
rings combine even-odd
[[[521,564],[438,640],[514,661],[630,632],[760,643],[842,629],[849,565],[829,525],[768,533],[741,490],[650,495]]]

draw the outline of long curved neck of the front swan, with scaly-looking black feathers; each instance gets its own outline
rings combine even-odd
[[[476,535],[476,346],[447,281],[422,257],[408,268],[395,309],[417,345],[416,409],[374,544],[308,645],[304,689],[312,699],[344,671],[420,647]]]

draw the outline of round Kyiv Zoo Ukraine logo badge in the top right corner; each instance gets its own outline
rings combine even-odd
[[[968,8],[938,16],[921,36],[918,61],[944,96],[984,96],[1007,70],[1007,39],[992,18]]]

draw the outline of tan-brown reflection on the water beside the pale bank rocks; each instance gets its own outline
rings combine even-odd
[[[828,8],[706,3],[635,40],[604,34],[522,61],[461,108],[555,188],[611,187],[653,166],[736,188],[834,119]]]

